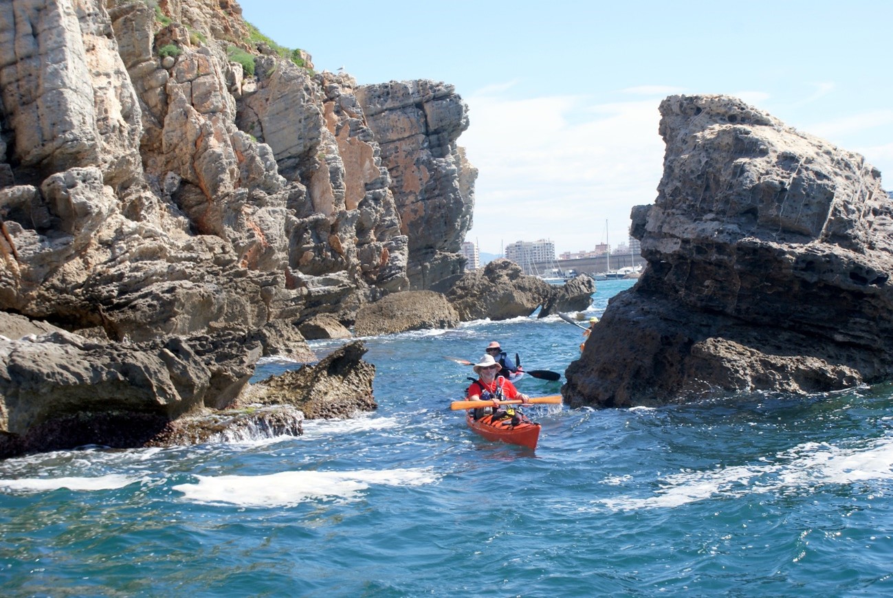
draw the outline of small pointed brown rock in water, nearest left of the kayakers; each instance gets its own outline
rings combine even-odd
[[[372,396],[375,366],[362,360],[362,341],[344,345],[316,365],[287,371],[252,385],[240,405],[286,404],[304,412],[306,419],[348,418],[358,411],[378,408]]]

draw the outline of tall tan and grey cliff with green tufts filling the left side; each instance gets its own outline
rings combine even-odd
[[[231,0],[0,3],[0,311],[96,343],[251,338],[250,368],[459,267],[453,87],[357,87],[255,33]]]

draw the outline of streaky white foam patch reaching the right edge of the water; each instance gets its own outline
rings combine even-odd
[[[893,480],[893,438],[867,446],[800,444],[759,464],[710,471],[682,471],[658,480],[651,496],[621,496],[597,502],[614,511],[678,507],[714,497],[746,494],[803,494],[822,486]]]

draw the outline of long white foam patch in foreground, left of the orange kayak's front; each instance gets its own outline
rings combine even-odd
[[[267,476],[196,476],[174,490],[188,501],[241,507],[294,506],[305,501],[353,501],[371,485],[423,486],[437,481],[430,469],[283,471]]]

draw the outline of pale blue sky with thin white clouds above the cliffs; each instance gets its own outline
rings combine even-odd
[[[483,253],[627,242],[663,173],[658,106],[736,96],[863,154],[893,188],[889,0],[240,0],[281,46],[360,85],[433,79],[469,107]]]

